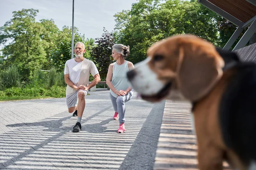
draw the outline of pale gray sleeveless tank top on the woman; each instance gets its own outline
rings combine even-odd
[[[125,60],[125,63],[122,65],[118,65],[116,62],[113,63],[113,74],[111,83],[114,88],[119,91],[125,91],[129,87],[128,79],[126,77],[126,73],[129,71],[128,61]],[[117,95],[110,90],[112,96],[117,97]]]

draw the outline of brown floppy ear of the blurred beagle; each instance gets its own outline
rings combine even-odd
[[[179,50],[178,86],[183,96],[197,101],[221,78],[224,60],[208,42],[180,43]]]

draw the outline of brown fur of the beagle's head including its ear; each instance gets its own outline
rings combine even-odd
[[[224,61],[215,47],[192,35],[162,40],[152,45],[147,55],[164,57],[160,62],[151,59],[150,68],[160,80],[175,79],[178,90],[190,100],[197,100],[207,94],[221,78],[221,68],[224,67]],[[193,91],[189,91],[190,88]]]

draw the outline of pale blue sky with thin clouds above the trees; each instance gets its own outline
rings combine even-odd
[[[114,14],[131,9],[137,0],[74,0],[74,26],[85,38],[99,38],[103,27],[113,31]],[[0,26],[12,18],[13,11],[38,9],[36,21],[53,19],[56,26],[72,26],[73,0],[0,0]]]

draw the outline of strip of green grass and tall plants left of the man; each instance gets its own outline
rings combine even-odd
[[[28,82],[21,83],[15,66],[0,71],[0,101],[62,98],[66,86],[63,72],[54,67],[49,72],[36,70]]]

